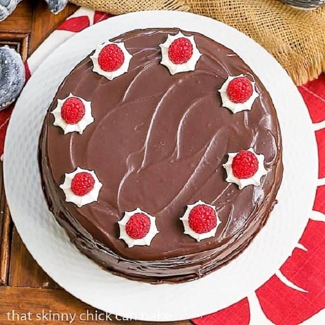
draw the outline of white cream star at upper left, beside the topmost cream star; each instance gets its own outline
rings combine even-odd
[[[115,44],[117,45],[123,52],[124,54],[124,62],[123,64],[115,71],[105,71],[103,70],[99,64],[98,64],[98,56],[100,51],[107,45],[109,44]],[[120,75],[128,72],[129,70],[129,65],[130,65],[130,60],[132,58],[132,55],[129,53],[129,51],[126,49],[125,45],[123,42],[119,43],[114,43],[110,41],[106,41],[100,45],[97,46],[95,53],[90,57],[93,61],[93,71],[97,72],[98,74],[106,77],[108,80],[113,80],[116,77],[119,77]]]

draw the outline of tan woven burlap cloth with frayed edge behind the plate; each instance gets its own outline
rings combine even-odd
[[[254,38],[288,71],[297,85],[325,71],[325,7],[303,11],[278,0],[70,0],[122,14],[183,10],[220,20]]]

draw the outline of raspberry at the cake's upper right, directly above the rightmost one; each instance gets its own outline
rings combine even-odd
[[[227,96],[233,103],[244,103],[252,94],[252,83],[246,77],[232,79],[228,84]]]

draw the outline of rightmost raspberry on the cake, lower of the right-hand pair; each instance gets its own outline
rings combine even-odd
[[[250,178],[257,172],[259,161],[252,152],[241,150],[233,158],[231,168],[235,177]]]

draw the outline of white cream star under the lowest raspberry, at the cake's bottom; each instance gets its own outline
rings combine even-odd
[[[139,239],[134,239],[128,235],[126,232],[126,224],[130,220],[130,218],[135,214],[135,213],[144,213],[149,219],[150,219],[150,228],[149,232],[143,237]],[[120,227],[120,239],[123,239],[126,244],[128,245],[129,248],[133,246],[150,246],[150,243],[152,239],[156,236],[157,233],[159,233],[157,226],[156,226],[156,217],[151,216],[147,212],[142,211],[140,208],[136,208],[133,211],[126,211],[124,213],[124,217],[118,221],[119,227]]]

